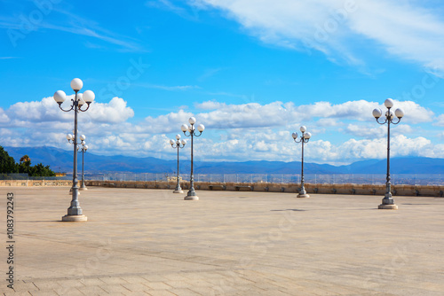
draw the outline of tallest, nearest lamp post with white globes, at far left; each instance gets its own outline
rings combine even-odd
[[[74,111],[74,136],[71,136],[71,141],[73,143],[78,143],[77,141],[77,113],[85,112],[90,108],[92,101],[94,100],[94,93],[91,90],[85,90],[82,94],[79,94],[78,91],[82,90],[83,82],[75,78],[71,81],[71,88],[75,91],[75,97],[71,99],[71,105],[67,110],[61,107],[61,104],[65,101],[67,95],[63,90],[57,90],[54,93],[54,100],[59,104],[60,110],[64,112]],[[82,106],[87,105],[86,108],[82,109]],[[69,140],[69,139],[68,139]],[[67,214],[62,217],[62,221],[65,222],[83,222],[87,220],[87,217],[83,214],[82,208],[80,207],[80,203],[78,200],[78,180],[77,180],[77,147],[74,144],[74,164],[73,164],[73,197],[71,200],[71,206],[67,208]]]

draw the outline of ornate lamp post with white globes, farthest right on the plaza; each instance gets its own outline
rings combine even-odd
[[[385,121],[379,122],[379,117],[382,116],[383,112],[381,109],[374,109],[373,116],[377,120],[379,124],[387,123],[387,177],[385,182],[385,197],[381,205],[377,206],[379,209],[389,209],[389,210],[397,210],[398,206],[394,204],[394,199],[392,199],[392,183],[390,182],[390,124],[398,124],[400,123],[400,119],[404,116],[404,112],[402,109],[398,108],[393,113],[392,106],[393,100],[391,98],[387,98],[384,102],[385,107],[387,107],[387,111],[385,112]],[[393,121],[394,117],[397,117],[398,121]]]

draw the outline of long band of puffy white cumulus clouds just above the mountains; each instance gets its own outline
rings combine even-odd
[[[409,101],[395,101],[396,106],[404,108],[406,114],[425,115],[413,122],[406,115],[402,120],[405,122],[392,129],[392,155],[444,157],[442,144],[434,144],[424,136],[404,136],[412,133],[410,124],[428,122],[433,113]],[[180,126],[194,116],[197,124],[207,128],[194,143],[195,160],[298,161],[300,146],[294,143],[291,132],[306,125],[313,134],[306,149],[307,161],[337,164],[385,157],[386,125],[378,126],[371,115],[374,107],[383,105],[375,102],[229,105],[208,101],[194,107],[198,113],[181,109],[129,122],[134,111],[123,98],[114,97],[109,103],[94,103],[88,112],[80,113],[79,132],[87,136],[86,142],[94,153],[172,159],[175,152],[170,148],[170,137],[177,133],[182,136]],[[72,149],[65,135],[73,129],[73,116],[72,112],[61,112],[52,97],[17,103],[0,109],[0,140],[12,146]],[[14,120],[8,121],[10,118]],[[419,129],[419,135],[423,135],[421,130],[424,129]],[[186,158],[189,149],[189,145],[184,149]]]

